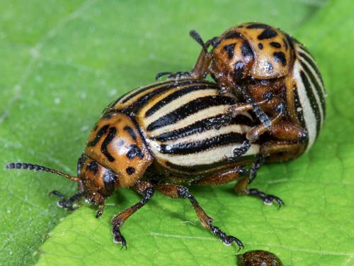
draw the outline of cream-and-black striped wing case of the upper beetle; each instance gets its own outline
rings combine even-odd
[[[306,150],[312,147],[314,140],[326,116],[325,89],[316,61],[304,45],[293,40],[295,62],[292,81],[287,85],[287,105],[290,106],[292,121],[307,130]],[[288,77],[290,79],[291,77]]]

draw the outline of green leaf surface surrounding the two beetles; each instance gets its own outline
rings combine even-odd
[[[353,4],[345,1],[9,1],[0,3],[0,163],[35,162],[74,173],[102,109],[161,71],[189,70],[203,38],[246,21],[279,26],[319,62],[328,98],[324,130],[292,162],[265,165],[253,186],[285,201],[264,206],[232,184],[192,188],[215,225],[285,265],[354,263]],[[74,184],[50,174],[0,171],[0,264],[234,265],[187,200],[158,192],[122,227],[110,218],[140,197],[120,189],[100,219],[84,204],[73,214],[47,192]],[[42,245],[43,241],[45,243]],[[39,251],[36,251],[39,250]],[[35,255],[33,255],[35,253]]]

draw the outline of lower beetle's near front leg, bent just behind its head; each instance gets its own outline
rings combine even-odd
[[[120,227],[127,220],[127,218],[134,214],[135,211],[142,208],[142,206],[147,204],[147,201],[149,201],[149,199],[151,199],[154,195],[154,187],[149,182],[138,181],[135,184],[135,189],[137,190],[137,192],[142,194],[143,198],[139,202],[137,202],[137,204],[134,204],[129,208],[125,209],[124,211],[121,211],[119,214],[113,216],[112,221],[110,222],[112,225],[112,233],[114,237],[113,242],[121,243],[122,248],[127,247],[127,242],[125,241],[125,238],[123,237],[122,233],[120,233]]]

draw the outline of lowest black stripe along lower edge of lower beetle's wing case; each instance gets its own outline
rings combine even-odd
[[[237,163],[239,162],[253,162],[255,160],[255,155],[246,155],[246,156],[241,156],[238,157],[236,160]],[[207,170],[214,170],[217,167],[221,167],[222,165],[228,165],[230,162],[226,160],[222,160],[219,162],[214,162],[211,164],[207,165],[190,165],[190,166],[184,166],[184,165],[175,165],[169,161],[166,162],[167,167],[171,168],[172,170],[176,170],[178,172],[186,172],[188,174],[193,173],[198,175],[199,172],[207,171]],[[224,170],[224,169],[223,169]],[[185,177],[185,175],[184,175]]]

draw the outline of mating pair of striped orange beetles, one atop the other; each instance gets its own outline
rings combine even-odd
[[[253,49],[251,40],[254,38],[251,36],[256,34],[258,39],[260,36],[263,39],[269,39],[270,35],[285,36],[279,38],[283,42],[281,49],[287,51],[284,53],[286,61],[279,60],[282,55],[278,53],[275,56],[273,52],[273,61],[270,61],[274,64],[273,68],[268,66],[273,74],[268,74],[264,79],[256,76],[265,71],[262,58],[268,58],[261,54],[261,45],[264,51],[269,49],[265,48],[265,41],[257,45],[259,50]],[[76,201],[86,197],[92,204],[98,205],[96,217],[103,214],[105,198],[115,189],[134,188],[142,194],[142,200],[112,219],[114,241],[123,246],[126,241],[120,232],[121,226],[158,190],[171,198],[188,199],[202,226],[217,235],[223,243],[236,243],[242,248],[238,238],[227,235],[212,224],[212,218],[184,185],[224,184],[237,179],[235,190],[239,194],[257,196],[265,203],[275,201],[281,206],[283,203],[278,197],[249,189],[248,185],[256,177],[256,171],[264,159],[287,160],[312,145],[314,138],[311,134],[317,135],[321,128],[324,105],[316,105],[321,115],[319,120],[314,116],[312,122],[316,123],[316,127],[310,133],[313,128],[308,122],[313,117],[307,106],[312,106],[312,100],[317,100],[321,91],[312,98],[305,97],[307,103],[304,104],[304,92],[310,89],[314,92],[315,87],[307,86],[302,73],[311,79],[309,84],[312,85],[314,79],[321,81],[321,78],[318,74],[312,79],[311,74],[317,73],[316,65],[302,45],[269,26],[242,24],[205,44],[198,35],[193,35],[203,45],[203,50],[193,72],[184,74],[191,77],[176,79],[176,75],[172,75],[164,82],[135,89],[110,104],[91,131],[85,151],[77,163],[76,177],[21,162],[10,163],[6,167],[43,170],[78,182],[79,192],[69,199],[57,191],[52,194],[61,197],[59,205],[67,209],[72,209]],[[249,36],[249,40],[245,36]],[[278,39],[272,43],[278,43]],[[207,51],[209,45],[213,46],[212,53]],[[278,45],[271,46],[277,48],[275,46]],[[306,62],[296,57],[300,53],[295,51],[297,47],[304,55],[306,53],[306,57],[301,57]],[[275,65],[276,62],[280,65]],[[290,62],[292,67],[287,67]],[[282,76],[277,74],[280,70]],[[208,73],[221,87],[226,88],[222,94],[219,85],[202,80]],[[295,76],[290,76],[291,73]],[[291,101],[286,86],[294,84],[297,90],[292,87]],[[231,90],[234,87],[241,92],[241,99],[248,103],[237,99],[239,95]],[[302,107],[297,107],[300,104]],[[291,113],[294,111],[292,107],[295,114]],[[299,108],[304,112],[302,116]],[[274,116],[271,123],[267,122],[268,114]],[[290,119],[292,115],[293,121]],[[307,127],[295,123],[296,119]]]

